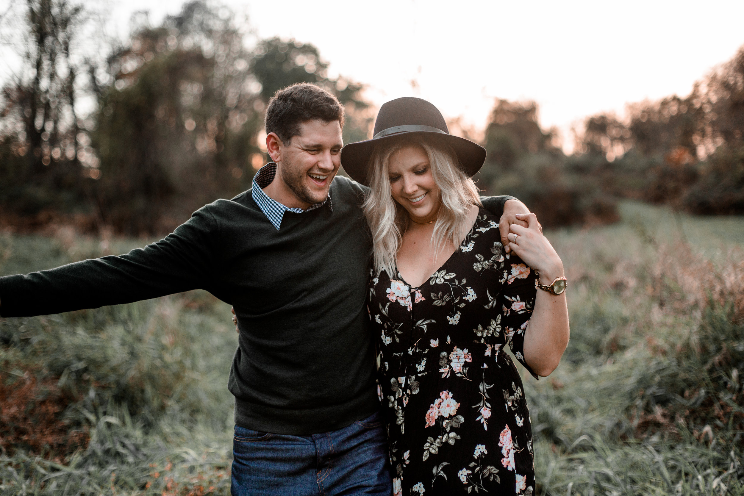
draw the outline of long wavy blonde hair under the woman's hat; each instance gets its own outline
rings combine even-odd
[[[370,158],[368,184],[371,193],[362,208],[372,231],[372,255],[376,272],[386,271],[396,276],[397,253],[403,233],[411,222],[405,208],[392,196],[389,164],[391,156],[407,146],[419,146],[429,158],[434,182],[440,189],[440,208],[430,248],[438,255],[448,242],[458,246],[469,229],[468,210],[471,205],[481,206],[478,188],[460,167],[455,152],[446,144],[421,137],[401,137],[392,143],[380,145]]]

